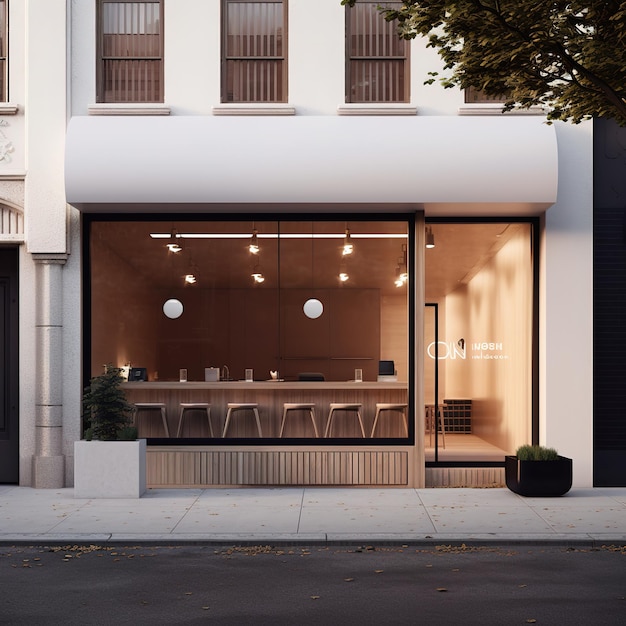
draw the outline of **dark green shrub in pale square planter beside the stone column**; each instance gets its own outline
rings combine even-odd
[[[121,370],[107,366],[83,393],[85,439],[74,442],[74,496],[138,498],[146,491],[146,440],[132,426]]]

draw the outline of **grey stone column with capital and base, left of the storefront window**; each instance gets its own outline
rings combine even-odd
[[[64,486],[63,265],[64,254],[34,254],[36,264],[36,396],[33,487]]]

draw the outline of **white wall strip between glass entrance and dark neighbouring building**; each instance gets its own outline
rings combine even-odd
[[[540,439],[593,484],[592,125],[557,124],[558,200],[545,216],[541,264]]]

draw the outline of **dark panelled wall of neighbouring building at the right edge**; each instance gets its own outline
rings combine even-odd
[[[626,486],[626,128],[594,121],[594,485]]]

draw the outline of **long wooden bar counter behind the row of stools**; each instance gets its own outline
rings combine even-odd
[[[264,437],[275,438],[280,432],[280,422],[285,402],[314,402],[315,419],[320,437],[323,437],[331,402],[360,402],[366,436],[370,436],[377,402],[406,403],[408,385],[404,382],[283,382],[283,381],[220,381],[220,382],[134,382],[124,383],[128,401],[164,402],[171,437],[176,436],[181,402],[208,402],[211,404],[211,421],[216,438],[221,437],[228,402],[256,402],[259,405]],[[155,412],[157,413],[157,412]],[[409,417],[411,420],[411,417]],[[140,413],[140,437],[163,437],[160,415]],[[333,425],[335,437],[360,437],[356,416],[346,414],[336,417]],[[396,413],[379,419],[377,437],[404,437],[404,428]],[[258,437],[252,415],[236,414],[229,427],[229,437]],[[182,438],[209,437],[206,416],[195,412],[185,418]],[[310,417],[306,412],[291,413],[284,437],[315,438]]]

